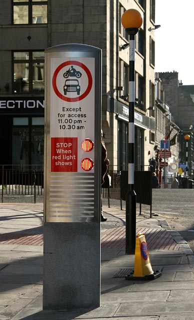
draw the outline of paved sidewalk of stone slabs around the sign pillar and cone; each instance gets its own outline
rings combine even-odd
[[[42,310],[43,204],[0,204],[0,320],[193,320],[194,255],[162,217],[136,214],[145,234],[154,280],[126,280],[125,211],[103,204],[101,302],[93,310]]]

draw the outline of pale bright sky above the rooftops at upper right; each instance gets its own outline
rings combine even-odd
[[[155,0],[155,72],[194,84],[194,0]]]

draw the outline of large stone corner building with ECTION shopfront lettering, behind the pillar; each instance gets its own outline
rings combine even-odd
[[[0,0],[0,163],[43,163],[44,49],[85,43],[102,49],[102,129],[114,169],[127,165],[129,38],[120,18],[135,8],[135,165],[154,155],[155,0]],[[151,107],[151,108],[150,108]]]

